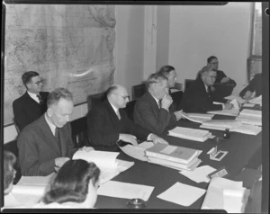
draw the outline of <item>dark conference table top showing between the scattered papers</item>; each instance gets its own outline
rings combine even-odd
[[[215,115],[212,119],[214,120],[228,120],[235,119],[235,117]],[[177,122],[179,127],[187,127],[193,129],[200,129],[200,123],[195,123],[189,120],[181,119]],[[224,131],[208,129],[211,134],[223,138]],[[184,138],[170,137],[167,134],[161,136],[165,138],[170,145],[191,147],[202,150],[199,158],[202,160],[202,165],[210,165],[213,168],[219,169],[221,166],[225,166],[229,173],[226,178],[234,180],[241,170],[254,158],[254,156],[261,156],[262,150],[262,132],[254,135],[247,135],[238,132],[230,132],[230,138],[223,138],[220,140],[218,149],[222,151],[228,151],[228,154],[224,156],[220,161],[211,160],[207,152],[217,145],[215,139],[207,139],[204,142],[198,142],[188,140]],[[172,212],[181,212],[188,210],[200,211],[202,207],[202,201],[205,194],[202,195],[197,201],[189,207],[180,206],[173,202],[163,201],[157,198],[162,192],[165,192],[168,188],[173,186],[175,183],[184,183],[194,187],[202,188],[207,190],[209,183],[195,183],[184,175],[180,174],[178,170],[165,167],[162,165],[154,165],[148,162],[137,160],[133,157],[127,156],[123,152],[117,157],[121,160],[133,161],[135,164],[130,169],[118,174],[112,179],[112,181],[118,181],[121,183],[134,183],[142,184],[155,187],[151,193],[148,201],[146,210],[151,211],[158,210],[171,210]],[[117,190],[115,190],[117,191]],[[185,192],[179,192],[184,194]],[[99,195],[95,203],[97,209],[127,209],[127,202],[129,199],[112,198],[107,196]]]

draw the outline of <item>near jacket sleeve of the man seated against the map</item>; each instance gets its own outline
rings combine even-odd
[[[29,119],[27,118],[24,110],[23,104],[18,103],[18,101],[14,101],[13,103],[14,109],[14,120],[18,128],[22,131],[23,128],[30,123]]]

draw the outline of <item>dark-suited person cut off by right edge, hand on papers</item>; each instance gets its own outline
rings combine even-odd
[[[250,100],[255,96],[262,94],[262,73],[256,74],[253,79],[249,82],[247,87],[245,87],[239,94],[240,97]]]

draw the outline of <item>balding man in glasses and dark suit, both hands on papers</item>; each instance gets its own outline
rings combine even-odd
[[[107,99],[87,114],[88,141],[94,149],[119,151],[116,142],[121,140],[138,146],[139,140],[153,140],[166,143],[163,138],[135,125],[123,108],[129,102],[129,95],[121,85],[112,85],[107,90]]]

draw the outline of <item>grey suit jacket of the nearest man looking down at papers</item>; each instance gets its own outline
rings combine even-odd
[[[60,146],[43,114],[38,120],[27,125],[18,138],[19,162],[22,175],[45,176],[54,172],[54,159],[72,157],[76,152],[71,137],[70,123],[59,129]]]

